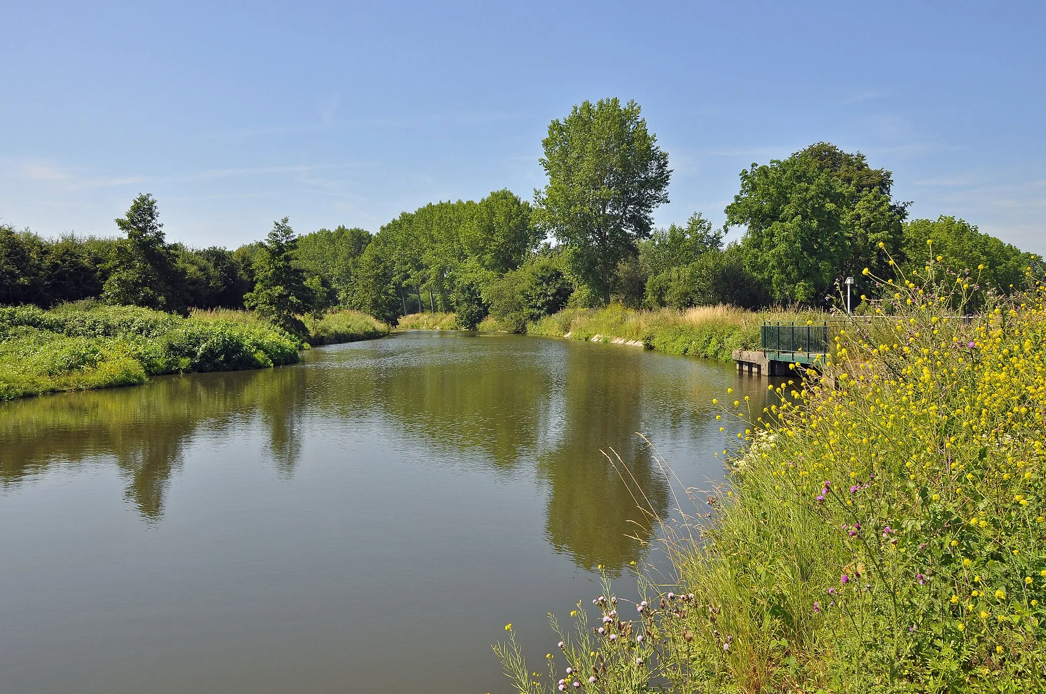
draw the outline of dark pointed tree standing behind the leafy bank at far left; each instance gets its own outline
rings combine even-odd
[[[113,249],[103,300],[185,314],[185,271],[178,265],[176,250],[166,242],[156,200],[149,193],[138,195],[127,216],[116,219],[116,226],[127,238]]]

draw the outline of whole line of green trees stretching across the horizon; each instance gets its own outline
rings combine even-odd
[[[744,169],[720,229],[701,212],[654,227],[672,170],[634,101],[584,101],[542,144],[548,182],[532,204],[495,190],[404,212],[374,234],[340,226],[299,236],[283,218],[233,251],[190,249],[166,241],[149,194],[116,219],[119,238],[45,239],[0,225],[0,304],[249,308],[298,333],[301,316],[336,306],[390,323],[455,311],[463,327],[492,315],[522,330],[567,305],[611,301],[823,307],[847,276],[858,296],[874,297],[882,287],[862,271],[919,269],[930,239],[940,262],[978,268],[972,281],[1002,293],[1023,285],[1032,260],[962,219],[909,221],[890,171],[825,142]],[[724,244],[731,228],[744,234]]]

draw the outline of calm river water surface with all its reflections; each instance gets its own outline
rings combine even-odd
[[[547,611],[591,598],[597,564],[649,558],[600,449],[668,510],[634,433],[703,484],[726,441],[710,399],[761,409],[766,384],[412,332],[0,406],[0,689],[505,691],[507,622],[543,661]]]

